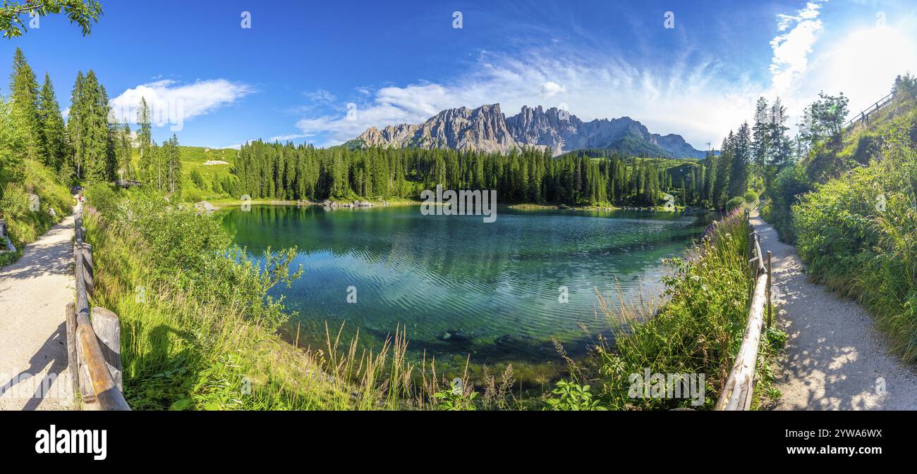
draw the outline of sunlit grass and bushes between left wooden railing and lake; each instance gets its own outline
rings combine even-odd
[[[381,350],[326,329],[324,347],[303,350],[276,333],[289,314],[267,296],[288,277],[295,250],[260,266],[228,243],[212,216],[149,190],[87,189],[94,245],[94,305],[121,319],[125,396],[148,410],[467,409],[436,361],[405,358],[403,330]],[[129,198],[129,199],[127,199]],[[143,249],[138,252],[137,249]],[[519,407],[512,369],[486,372],[481,407]],[[449,392],[446,399],[443,393]],[[439,393],[440,395],[437,395]]]

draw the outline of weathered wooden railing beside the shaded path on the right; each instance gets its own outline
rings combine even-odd
[[[746,208],[757,208],[757,200]],[[751,408],[752,393],[755,391],[755,365],[757,350],[761,342],[761,328],[767,318],[768,328],[771,324],[772,306],[770,301],[770,252],[761,253],[761,242],[757,232],[748,236],[748,274],[753,285],[750,290],[748,321],[742,346],[735,355],[733,368],[723,386],[723,392],[716,401],[717,410],[748,410]],[[767,316],[766,316],[767,315]]]

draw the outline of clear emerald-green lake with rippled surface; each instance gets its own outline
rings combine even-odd
[[[558,361],[551,338],[572,354],[585,350],[580,324],[593,335],[608,331],[595,290],[615,302],[657,296],[662,259],[710,222],[668,212],[499,208],[485,223],[414,206],[253,206],[220,215],[252,253],[299,248],[304,276],[271,290],[299,313],[284,329],[288,338],[299,326],[301,345],[324,347],[325,323],[337,332],[346,322],[346,336],[359,328],[360,342],[378,348],[401,325],[416,357],[425,350],[427,360],[458,363],[470,354],[486,364]]]

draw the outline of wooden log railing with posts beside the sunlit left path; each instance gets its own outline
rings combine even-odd
[[[83,242],[83,209],[74,221],[73,270],[76,302],[67,304],[67,363],[73,382],[73,397],[83,410],[130,410],[122,393],[121,324],[115,313],[104,307],[90,310],[94,291],[93,247]]]

